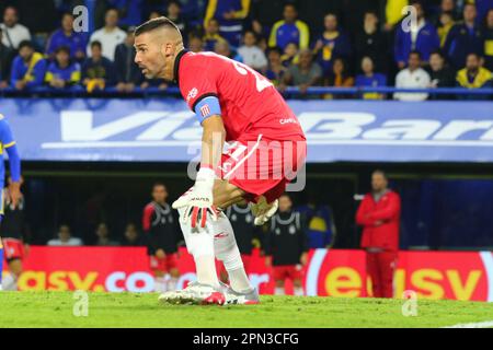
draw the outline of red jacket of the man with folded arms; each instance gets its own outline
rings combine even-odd
[[[378,201],[367,194],[356,213],[356,223],[363,226],[362,248],[399,250],[400,217],[401,198],[397,192],[389,190]]]

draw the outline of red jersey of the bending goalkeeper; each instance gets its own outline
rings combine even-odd
[[[226,140],[306,140],[297,117],[274,85],[229,58],[181,51],[174,67],[183,98],[202,120],[220,115]]]

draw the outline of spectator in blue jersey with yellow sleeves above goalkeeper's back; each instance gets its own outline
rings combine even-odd
[[[284,7],[284,20],[274,23],[268,38],[268,46],[278,46],[283,50],[289,43],[296,44],[300,49],[308,48],[310,31],[308,25],[298,20],[298,11],[291,3]]]

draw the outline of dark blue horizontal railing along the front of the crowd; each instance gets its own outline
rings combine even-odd
[[[344,95],[345,97],[362,98],[364,94],[378,93],[388,95],[391,98],[393,93],[426,93],[431,96],[439,95],[442,97],[471,97],[477,96],[481,98],[488,98],[493,96],[493,88],[484,89],[465,89],[465,88],[437,88],[437,89],[398,89],[391,86],[365,86],[365,88],[328,88],[328,86],[311,86],[308,88],[306,93],[301,93],[297,86],[288,86],[283,91],[283,94],[287,97],[299,96],[323,96],[323,95]],[[180,95],[180,90],[176,86],[169,86],[164,90],[158,88],[140,89],[136,88],[131,93],[123,93],[116,90],[116,88],[106,88],[104,90],[94,91],[92,93],[85,92],[81,86],[77,89],[68,90],[55,90],[47,86],[35,88],[28,91],[18,91],[13,88],[5,88],[0,90],[0,97],[10,96],[54,96],[54,97],[125,97],[125,96],[174,96]],[[446,98],[445,98],[446,100]]]

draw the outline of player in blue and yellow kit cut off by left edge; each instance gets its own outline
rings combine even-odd
[[[0,198],[0,222],[3,219],[3,196],[9,196],[10,203],[15,208],[22,197],[21,194],[21,158],[19,156],[15,140],[10,130],[10,126],[0,114],[0,154],[3,156],[3,150],[9,153],[10,176],[12,180],[9,184],[8,191],[1,191]],[[3,178],[5,177],[4,162],[0,162],[0,188],[3,188]],[[3,265],[3,244],[0,237],[0,290],[2,289],[2,265]]]

